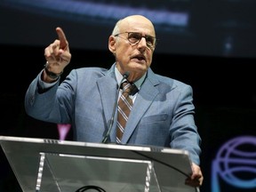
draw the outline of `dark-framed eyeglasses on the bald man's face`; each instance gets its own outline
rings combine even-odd
[[[128,34],[127,38],[120,36],[122,34]],[[141,38],[144,37],[146,39],[146,44],[147,44],[148,48],[154,49],[156,47],[156,37],[155,36],[148,36],[148,35],[143,36],[139,32],[123,32],[123,33],[116,34],[114,36],[119,36],[123,39],[127,39],[129,41],[129,43],[132,45],[139,44]]]

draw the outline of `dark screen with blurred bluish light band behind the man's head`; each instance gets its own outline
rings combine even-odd
[[[106,50],[116,20],[143,14],[156,52],[255,58],[254,0],[1,0],[0,44],[43,45],[60,26],[73,48]]]

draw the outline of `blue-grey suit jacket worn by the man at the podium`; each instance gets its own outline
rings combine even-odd
[[[29,116],[56,124],[72,124],[74,140],[101,142],[116,102],[115,66],[73,69],[59,85],[43,91],[41,73],[29,85],[25,108]],[[191,86],[166,76],[148,75],[140,87],[125,127],[122,143],[188,150],[200,164]],[[116,142],[116,116],[110,142]]]

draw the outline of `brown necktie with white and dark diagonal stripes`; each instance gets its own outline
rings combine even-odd
[[[121,143],[124,127],[132,110],[132,99],[129,97],[136,86],[128,82],[122,84],[123,93],[118,100],[116,143]]]

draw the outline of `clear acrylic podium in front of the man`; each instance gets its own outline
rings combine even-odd
[[[187,151],[0,136],[24,192],[195,192]],[[84,188],[84,189],[83,189]]]

